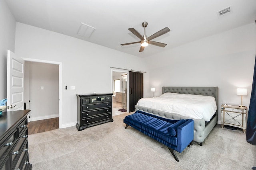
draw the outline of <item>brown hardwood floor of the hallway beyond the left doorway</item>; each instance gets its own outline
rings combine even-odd
[[[30,121],[28,123],[28,135],[51,131],[59,128],[59,118]]]

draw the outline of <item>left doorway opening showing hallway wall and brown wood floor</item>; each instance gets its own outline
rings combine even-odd
[[[24,65],[24,100],[26,101],[25,106],[31,110],[28,123],[31,128],[28,129],[28,133],[58,129],[59,66],[30,61],[25,61]],[[35,126],[32,126],[33,124]]]

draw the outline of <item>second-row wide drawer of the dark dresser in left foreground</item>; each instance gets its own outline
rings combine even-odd
[[[12,164],[14,164],[17,161],[17,159],[20,157],[20,154],[22,154],[23,146],[25,145],[26,142],[28,142],[27,138],[28,138],[28,131],[26,129],[26,131],[24,131],[20,135],[18,143],[15,144],[14,148],[10,152]]]

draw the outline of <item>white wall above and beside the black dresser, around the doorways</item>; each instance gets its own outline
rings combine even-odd
[[[15,53],[62,63],[62,127],[76,123],[76,94],[112,92],[110,66],[148,72],[144,73],[144,96],[149,96],[149,70],[139,57],[18,22]]]

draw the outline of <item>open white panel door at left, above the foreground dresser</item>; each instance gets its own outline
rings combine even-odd
[[[24,109],[24,63],[8,50],[7,54],[7,111]]]

